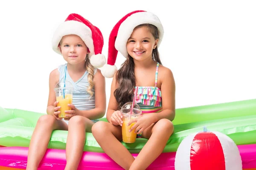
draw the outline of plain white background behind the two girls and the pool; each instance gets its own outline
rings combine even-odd
[[[176,108],[255,99],[255,0],[6,0],[0,4],[0,107],[46,113],[49,73],[65,63],[51,48],[52,35],[68,14],[101,29],[107,56],[111,29],[138,9],[163,24],[159,51],[175,77]],[[119,53],[118,68],[123,61]]]

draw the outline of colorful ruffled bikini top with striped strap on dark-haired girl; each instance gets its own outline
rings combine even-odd
[[[155,86],[137,86],[138,92],[135,102],[140,106],[140,110],[145,113],[157,113],[163,111],[162,108],[162,92],[157,87],[159,63],[157,62],[157,69],[155,74]],[[135,87],[136,88],[136,87]]]

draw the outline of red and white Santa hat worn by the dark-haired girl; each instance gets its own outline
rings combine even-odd
[[[128,58],[126,49],[127,40],[131,36],[134,28],[140,24],[152,24],[159,30],[159,40],[157,47],[159,47],[163,39],[163,26],[155,14],[147,11],[132,11],[126,14],[113,27],[108,41],[108,62],[104,65],[102,75],[107,78],[113,77],[117,68],[115,66],[117,52],[119,51],[125,58]]]

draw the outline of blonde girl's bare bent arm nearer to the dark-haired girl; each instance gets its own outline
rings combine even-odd
[[[78,110],[78,115],[88,119],[99,119],[105,115],[106,111],[105,77],[102,76],[99,69],[94,75],[93,82],[95,90],[95,108],[89,111]]]

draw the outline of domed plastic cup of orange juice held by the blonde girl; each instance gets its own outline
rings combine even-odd
[[[57,106],[61,106],[58,110],[61,113],[58,114],[59,118],[67,118],[65,115],[65,111],[71,110],[68,104],[72,104],[72,95],[73,95],[73,87],[72,84],[66,81],[65,85],[63,83],[57,83],[55,87],[56,101],[58,101]]]

